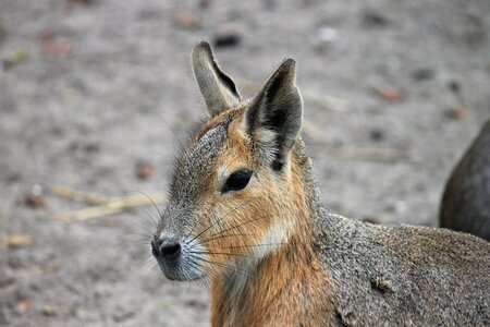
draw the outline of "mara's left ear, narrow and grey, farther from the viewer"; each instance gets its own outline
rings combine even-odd
[[[211,116],[240,102],[235,83],[220,70],[208,43],[196,45],[192,60],[194,75]]]

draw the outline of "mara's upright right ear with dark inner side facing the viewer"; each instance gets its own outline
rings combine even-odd
[[[296,143],[303,120],[303,101],[295,85],[293,59],[285,60],[252,100],[246,113],[247,132],[281,170]]]

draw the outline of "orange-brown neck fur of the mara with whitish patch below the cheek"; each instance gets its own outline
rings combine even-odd
[[[294,326],[302,322],[321,325],[317,311],[328,311],[323,302],[329,278],[311,244],[311,219],[318,218],[319,199],[311,180],[311,162],[303,142],[292,154],[292,178],[298,203],[295,219],[277,222],[264,238],[254,259],[237,263],[212,281],[213,326]],[[295,202],[296,202],[295,201]],[[279,220],[281,221],[281,220]],[[285,233],[283,233],[286,231]],[[278,242],[279,241],[279,242]],[[267,243],[268,242],[268,243]],[[280,320],[277,320],[280,319]],[[314,326],[314,325],[313,325]]]

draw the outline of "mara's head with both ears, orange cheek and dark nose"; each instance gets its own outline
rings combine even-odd
[[[305,219],[302,98],[285,60],[242,100],[207,43],[192,55],[210,119],[180,154],[151,247],[169,279],[241,269],[278,251]]]

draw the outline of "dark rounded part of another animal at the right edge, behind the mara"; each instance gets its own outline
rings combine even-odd
[[[490,120],[448,181],[440,221],[441,227],[490,241]]]

